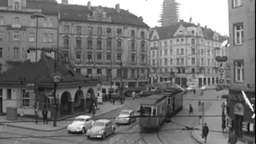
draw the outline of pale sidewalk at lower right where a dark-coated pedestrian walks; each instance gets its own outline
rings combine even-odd
[[[221,115],[222,114],[222,102],[226,103],[225,99],[219,99],[210,106],[208,110],[206,110],[205,115]],[[207,137],[207,142],[202,139],[202,122],[201,125],[196,125],[194,128],[198,128],[201,130],[193,130],[191,131],[192,137],[199,143],[205,144],[226,144],[228,142],[229,134],[222,134],[222,118],[221,117],[205,117],[204,123],[207,123],[207,126],[210,130],[220,131],[218,132],[209,132]],[[227,128],[227,127],[226,127]],[[243,144],[243,142],[237,142],[237,144]]]

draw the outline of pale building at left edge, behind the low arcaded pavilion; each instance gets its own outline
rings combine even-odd
[[[32,14],[44,14],[37,21]],[[38,36],[38,37],[37,37]],[[38,38],[38,46],[36,46]],[[58,41],[58,3],[54,1],[0,1],[0,73],[26,60],[29,48],[54,48]],[[33,53],[33,52],[32,52]]]

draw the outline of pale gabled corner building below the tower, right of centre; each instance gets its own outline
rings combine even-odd
[[[225,37],[190,22],[156,27],[150,33],[150,82],[173,82],[182,86],[216,85],[215,57]],[[223,51],[225,53],[225,51]],[[170,72],[174,77],[170,81]]]

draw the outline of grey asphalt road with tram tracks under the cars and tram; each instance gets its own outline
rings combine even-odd
[[[210,90],[205,91],[204,96],[195,96],[194,94],[187,94],[185,99],[212,99],[216,98],[216,91]],[[183,110],[178,115],[188,115],[189,103],[194,107],[194,114],[197,114],[198,101],[188,101],[183,102]],[[211,106],[212,102],[205,102],[205,110]],[[135,100],[126,100],[126,108],[130,107],[131,109],[138,110],[138,101]],[[126,109],[125,108],[125,109]],[[114,121],[114,118],[118,116],[122,109],[114,110],[110,113],[101,115],[102,118],[110,118]],[[51,143],[60,143],[60,144],[80,144],[80,143],[90,143],[90,144],[179,144],[179,143],[197,143],[191,138],[190,131],[182,130],[166,130],[174,128],[183,128],[177,124],[182,124],[185,126],[194,126],[198,122],[198,118],[194,117],[175,117],[172,118],[171,123],[166,123],[162,126],[162,131],[152,134],[143,134],[140,133],[141,130],[138,126],[138,121],[134,122],[127,126],[117,126],[116,134],[111,135],[106,140],[94,140],[87,139],[85,134],[67,134],[66,130],[60,130],[56,132],[39,132],[33,130],[22,130],[16,129],[7,126],[0,126],[0,137],[11,137],[11,136],[36,136],[36,135],[55,135],[58,137],[53,138],[18,138],[18,139],[0,139],[0,144],[51,144]],[[177,124],[176,124],[177,123]]]

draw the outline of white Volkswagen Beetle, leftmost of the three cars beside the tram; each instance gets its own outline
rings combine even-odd
[[[80,115],[74,118],[74,122],[67,126],[66,130],[69,133],[82,132],[86,133],[94,125],[94,121],[89,115]]]

